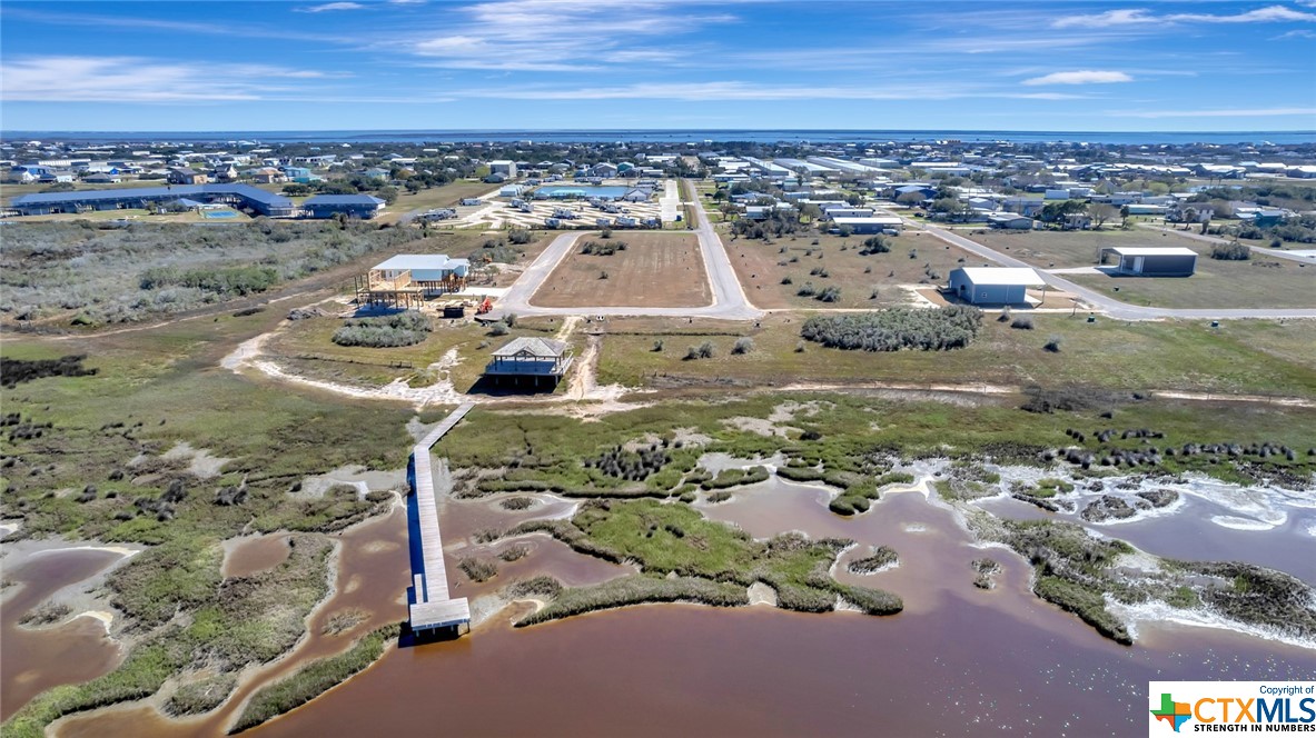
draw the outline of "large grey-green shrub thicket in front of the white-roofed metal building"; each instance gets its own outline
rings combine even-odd
[[[978,335],[980,325],[982,310],[967,305],[934,310],[892,308],[874,313],[816,316],[804,321],[800,337],[845,350],[946,350],[967,346]]]

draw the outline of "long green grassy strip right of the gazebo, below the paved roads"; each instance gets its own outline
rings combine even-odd
[[[1016,313],[1017,314],[1017,313]],[[599,358],[599,381],[684,387],[866,381],[912,384],[1086,384],[1119,389],[1191,389],[1316,395],[1312,321],[1123,324],[1083,316],[1034,314],[1021,330],[984,316],[978,338],[951,351],[866,353],[801,342],[807,316],[754,322],[612,318]],[[733,354],[737,339],[753,347]],[[1059,338],[1059,353],[1042,346]],[[684,359],[708,341],[713,357]],[[661,350],[658,349],[661,342]],[[797,350],[803,349],[803,351]]]

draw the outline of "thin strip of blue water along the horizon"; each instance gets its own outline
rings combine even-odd
[[[461,141],[611,142],[651,143],[726,142],[758,143],[808,141],[813,143],[849,141],[1009,141],[1016,143],[1088,142],[1111,145],[1188,145],[1188,143],[1316,143],[1316,130],[1248,132],[1082,132],[1082,130],[896,130],[896,129],[557,129],[557,130],[12,130],[0,139],[61,139],[82,142],[229,142],[265,143],[420,143]]]

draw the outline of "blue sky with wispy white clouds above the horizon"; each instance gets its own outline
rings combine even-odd
[[[1316,129],[1316,0],[0,5],[5,130]]]

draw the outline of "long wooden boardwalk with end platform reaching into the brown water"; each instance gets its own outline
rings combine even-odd
[[[466,597],[453,599],[447,593],[447,567],[443,564],[443,539],[438,533],[438,504],[434,500],[434,471],[429,450],[474,408],[466,403],[451,412],[443,422],[429,431],[412,447],[412,492],[420,531],[421,571],[412,572],[412,633],[441,627],[470,626],[471,608]],[[446,462],[440,459],[440,470],[446,475]],[[446,493],[446,489],[445,489]],[[415,546],[415,542],[412,542]]]

